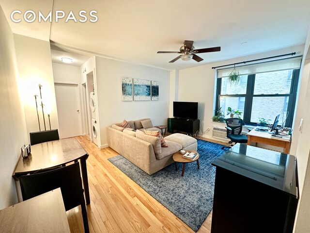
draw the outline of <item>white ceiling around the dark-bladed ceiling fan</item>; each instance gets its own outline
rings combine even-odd
[[[304,44],[310,25],[309,0],[0,0],[0,5],[14,33],[166,69]],[[80,10],[96,10],[98,21],[13,23],[16,9],[72,10],[76,17]],[[184,40],[193,40],[196,49],[221,51],[199,54],[200,63],[169,63],[178,54],[156,53],[178,51]]]

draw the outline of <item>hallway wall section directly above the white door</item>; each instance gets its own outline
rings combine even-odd
[[[52,63],[54,82],[81,83],[80,67]]]

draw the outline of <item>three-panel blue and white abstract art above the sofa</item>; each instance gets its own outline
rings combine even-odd
[[[159,82],[122,77],[122,100],[158,100]]]

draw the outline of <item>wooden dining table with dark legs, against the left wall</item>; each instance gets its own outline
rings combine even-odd
[[[13,178],[33,173],[37,170],[60,166],[80,160],[86,204],[90,203],[86,159],[88,153],[75,138],[65,138],[31,146],[31,155],[16,164]]]

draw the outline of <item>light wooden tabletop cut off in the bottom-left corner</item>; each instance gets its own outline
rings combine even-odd
[[[0,210],[0,232],[70,233],[60,188]]]

